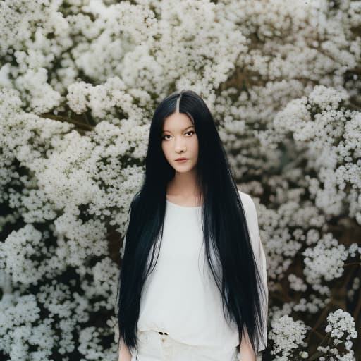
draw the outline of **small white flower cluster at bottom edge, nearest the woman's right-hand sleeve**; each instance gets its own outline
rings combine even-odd
[[[287,315],[274,317],[271,327],[269,339],[274,342],[271,355],[276,355],[275,361],[293,360],[294,350],[307,346],[303,339],[310,327],[301,320],[294,321],[292,317]]]

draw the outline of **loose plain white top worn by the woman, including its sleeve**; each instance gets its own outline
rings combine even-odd
[[[259,240],[255,204],[243,192],[240,197],[255,259],[267,287],[266,259]],[[201,206],[184,207],[166,200],[159,258],[142,289],[137,329],[164,331],[188,345],[232,350],[240,343],[238,328],[235,322],[228,324],[224,318],[221,293],[209,270],[202,242],[201,211]],[[148,264],[151,253],[152,250]],[[264,317],[267,319],[267,308]],[[267,329],[262,337],[258,351],[266,348]]]

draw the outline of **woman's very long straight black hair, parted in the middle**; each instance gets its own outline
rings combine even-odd
[[[128,348],[137,348],[142,286],[152,271],[156,249],[157,258],[159,255],[157,242],[161,242],[158,236],[163,232],[166,185],[175,173],[161,149],[161,132],[164,118],[173,114],[177,105],[179,112],[187,114],[194,123],[198,138],[197,185],[204,197],[204,244],[207,262],[221,293],[224,316],[238,325],[240,341],[246,326],[257,353],[266,322],[262,315],[265,290],[252,251],[245,211],[212,114],[204,100],[190,90],[175,92],[162,100],[150,125],[145,179],[128,211],[118,283],[118,344],[122,341]],[[152,259],[148,263],[151,249]],[[156,263],[157,259],[153,269]]]

